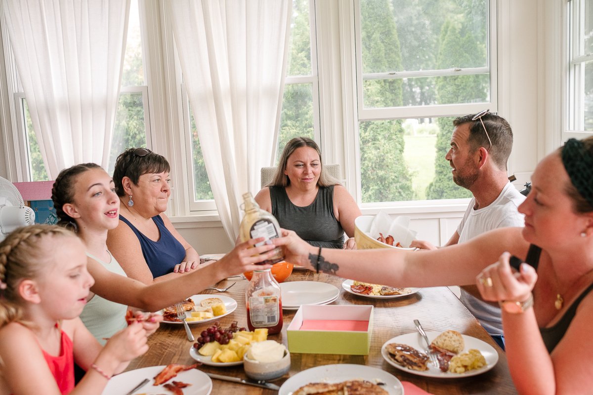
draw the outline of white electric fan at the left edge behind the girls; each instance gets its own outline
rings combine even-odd
[[[0,241],[24,225],[35,222],[35,211],[27,207],[12,182],[0,177]]]

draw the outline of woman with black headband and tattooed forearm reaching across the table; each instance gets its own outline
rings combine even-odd
[[[483,298],[502,307],[520,394],[590,394],[593,137],[568,140],[538,163],[531,181],[519,206],[524,228],[496,229],[444,249],[322,250],[287,230],[274,243],[290,262],[354,280],[396,287],[477,282]]]

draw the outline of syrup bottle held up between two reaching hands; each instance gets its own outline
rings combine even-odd
[[[256,239],[257,237],[265,237],[266,240],[257,243],[255,246],[258,247],[264,244],[272,244],[270,239],[280,237],[280,226],[278,220],[265,210],[262,210],[253,198],[250,192],[243,194],[245,216],[241,221],[241,227],[239,229],[241,241],[246,242],[250,239]],[[270,259],[266,259],[260,263],[260,265],[273,265],[277,262],[283,261],[284,256],[282,249],[277,247],[272,251],[275,254]]]

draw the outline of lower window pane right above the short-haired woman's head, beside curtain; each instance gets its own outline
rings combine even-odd
[[[115,128],[113,130],[113,139],[111,140],[109,169],[107,171],[109,174],[113,174],[117,156],[123,150],[130,147],[146,147],[146,126],[142,92],[119,95]]]

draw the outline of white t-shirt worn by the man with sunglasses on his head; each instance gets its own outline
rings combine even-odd
[[[517,210],[524,200],[525,196],[511,182],[508,182],[500,191],[498,198],[486,207],[474,210],[476,200],[472,199],[457,228],[458,243],[466,242],[499,227],[525,226],[524,216]],[[486,332],[490,335],[502,335],[502,319],[498,307],[471,296],[463,288],[460,299],[470,313],[479,320]]]

